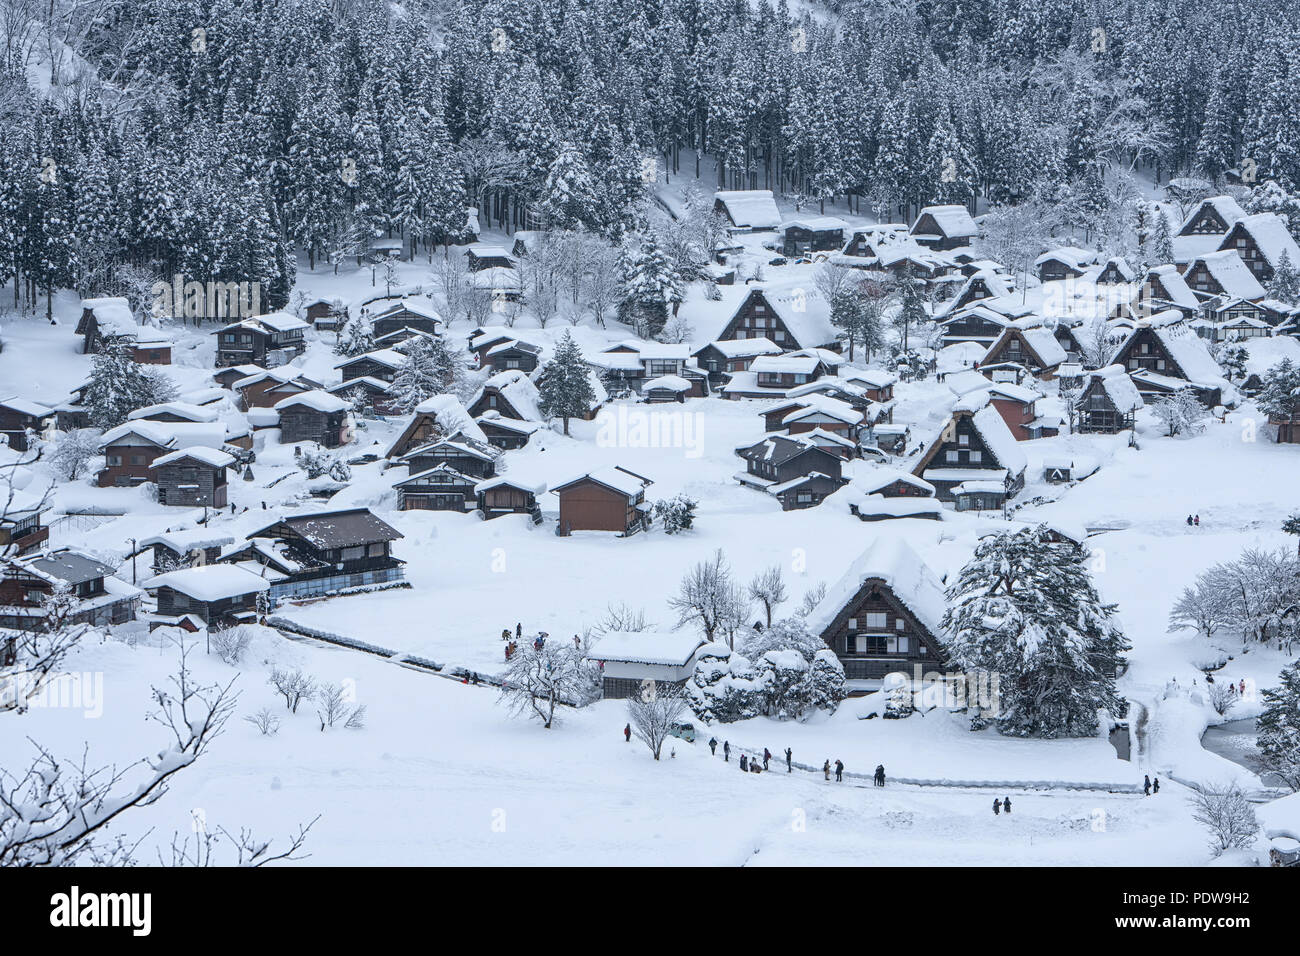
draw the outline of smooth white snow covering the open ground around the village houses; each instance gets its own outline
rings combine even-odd
[[[805,208],[809,212],[815,209]],[[826,213],[854,224],[866,221],[840,206],[827,206]],[[792,217],[794,211],[783,206],[783,215]],[[482,238],[508,242],[504,235]],[[746,261],[771,256],[760,247],[762,239],[744,237]],[[811,267],[770,272],[786,278],[801,269],[811,285]],[[402,263],[399,276],[403,290],[430,289],[422,258]],[[335,276],[328,267],[309,272],[304,261],[296,290],[312,298],[339,297],[355,308],[382,287],[372,285],[369,269],[344,268]],[[12,290],[0,289],[4,294]],[[699,302],[698,285],[689,295],[696,308],[707,307]],[[43,317],[10,317],[0,330],[0,393],[5,397],[55,405],[86,378],[90,358],[79,354],[73,334],[78,302],[60,294],[55,311],[55,325]],[[181,392],[208,386],[211,329],[169,330],[177,346],[168,375]],[[526,315],[515,330],[546,352],[566,330],[588,351],[632,337],[615,321],[601,329],[589,320],[576,328],[556,320],[538,329]],[[468,332],[460,320],[448,334],[460,342]],[[333,334],[313,330],[308,342],[298,364],[317,381],[334,384]],[[953,402],[952,393],[933,380],[900,385],[897,398],[894,421],[911,424],[914,442],[939,427]],[[763,407],[764,402],[708,398],[659,408],[655,414],[688,416],[686,447],[611,446],[601,437],[599,421],[575,421],[569,437],[556,424],[503,458],[506,473],[547,484],[620,464],[654,480],[647,490],[651,501],[679,492],[698,498],[696,529],[675,537],[660,531],[630,538],[556,537],[558,503],[549,493],[542,499],[546,522],[540,527],[524,516],[482,522],[472,515],[396,511],[391,484],[404,470],[385,473],[382,460],[354,466],[351,485],[330,503],[372,507],[402,532],[394,551],[407,562],[412,587],[285,606],[281,613],[302,624],[439,663],[497,672],[500,631],[514,630],[516,622],[526,633],[547,631],[552,640],[569,640],[595,624],[607,605],[627,602],[644,607],[655,628],[670,628],[675,618],[667,597],[676,592],[682,572],[716,548],[725,550],[741,581],[780,564],[790,591],[784,609],[789,613],[806,591],[837,580],[878,537],[905,538],[936,575],[950,578],[982,533],[1005,527],[997,518],[950,510],[942,522],[868,524],[837,499],[781,512],[774,498],[732,479],[741,470],[734,447],[763,433]],[[1210,864],[1205,835],[1192,819],[1188,790],[1175,778],[1235,780],[1251,791],[1261,790],[1261,782],[1201,747],[1201,731],[1221,718],[1201,693],[1204,676],[1197,665],[1230,654],[1234,659],[1222,678],[1268,687],[1286,658],[1257,646],[1247,653],[1230,637],[1216,639],[1212,646],[1190,632],[1170,632],[1167,615],[1179,591],[1214,562],[1245,548],[1294,546],[1279,524],[1294,509],[1288,492],[1300,480],[1300,446],[1248,440],[1258,421],[1257,411],[1245,403],[1201,434],[1169,438],[1143,411],[1140,450],[1127,447],[1127,436],[1065,434],[1020,445],[1030,464],[1019,501],[1041,496],[1044,503],[1023,509],[1018,519],[1110,528],[1088,545],[1096,555],[1096,584],[1105,600],[1118,604],[1134,645],[1131,666],[1119,680],[1121,692],[1134,702],[1134,718],[1144,715],[1141,752],[1132,762],[1118,760],[1104,737],[1017,740],[993,730],[971,734],[962,715],[944,710],[905,721],[859,719],[876,705],[874,698],[849,700],[833,717],[760,718],[715,726],[710,732],[733,747],[768,747],[774,754],[790,747],[796,761],[818,769],[824,760],[842,760],[849,771],[863,774],[883,763],[890,778],[1005,784],[879,790],[870,780],[827,782],[819,770],[740,774],[734,762],[723,762],[720,747],[718,757],[710,756],[710,732],[694,744],[671,740],[663,760],[655,762],[636,740],[624,743],[627,710],[620,701],[580,711],[563,709],[558,726],[543,730],[536,721],[511,718],[486,687],[259,628],[237,667],[203,654],[202,648],[194,656],[200,680],[238,678],[237,715],[209,753],[174,778],[162,800],[125,816],[114,832],[130,840],[143,836],[140,856],[151,860],[173,832],[188,832],[196,810],[209,826],[248,827],[278,840],[318,816],[307,862],[321,865]],[[382,454],[398,427],[396,420],[365,421],[347,454]],[[230,496],[239,514],[212,523],[214,531],[237,540],[265,523],[263,502],[292,509],[303,506],[307,496],[308,483],[292,464],[292,446],[277,444],[276,431],[257,432],[256,450],[255,480],[231,476]],[[1041,473],[1048,458],[1092,458],[1100,470],[1075,485],[1046,485]],[[40,488],[51,472],[38,464],[22,480],[31,489]],[[51,544],[74,545],[120,564],[126,580],[131,579],[131,562],[125,559],[131,538],[192,527],[200,516],[162,507],[139,489],[99,489],[77,480],[56,484],[51,518],[92,505],[120,509],[124,515],[92,528],[56,529]],[[1186,524],[1188,514],[1200,515],[1200,527]],[[148,574],[146,563],[142,559],[140,580]],[[103,675],[103,696],[92,708],[96,714],[36,708],[21,718],[0,717],[9,727],[0,734],[0,765],[25,766],[32,754],[29,737],[66,757],[88,747],[92,762],[105,765],[125,765],[156,750],[165,741],[161,728],[144,719],[152,706],[150,688],[161,685],[174,666],[174,649],[151,640],[142,623],[118,628],[103,643],[83,644],[66,670]],[[283,714],[266,682],[274,667],[302,667],[321,682],[348,682],[356,701],[367,706],[365,728],[322,734],[311,705],[298,715]],[[1180,689],[1166,696],[1175,678]],[[243,719],[261,708],[281,713],[278,735],[261,736]],[[1244,702],[1230,717],[1254,713],[1257,705]],[[21,732],[14,730],[20,722]],[[1144,773],[1160,775],[1158,796],[1141,796]],[[1026,782],[1041,788],[1028,788]],[[1095,788],[1074,788],[1084,784]],[[1134,784],[1136,793],[1130,790]],[[993,797],[1008,795],[1014,799],[1014,814],[994,817]],[[1300,831],[1295,799],[1273,808],[1273,826]],[[1254,851],[1213,862],[1247,864],[1264,858],[1266,849],[1261,838]]]

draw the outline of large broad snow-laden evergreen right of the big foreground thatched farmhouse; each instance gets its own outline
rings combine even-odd
[[[1092,736],[1097,714],[1123,717],[1115,672],[1128,643],[1102,604],[1087,554],[1046,528],[984,537],[944,614],[950,662],[1000,675],[997,727],[1009,736]]]

